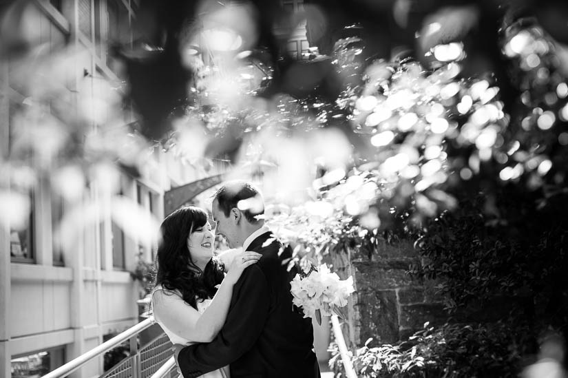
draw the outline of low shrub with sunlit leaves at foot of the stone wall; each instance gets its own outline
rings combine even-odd
[[[445,324],[414,333],[395,345],[359,348],[352,356],[358,377],[517,377],[524,340],[507,324]],[[522,334],[521,334],[522,335]],[[341,371],[337,354],[330,360]]]

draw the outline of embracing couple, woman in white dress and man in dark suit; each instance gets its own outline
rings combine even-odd
[[[160,227],[152,307],[183,377],[319,378],[311,319],[293,310],[284,262],[291,256],[257,217],[260,192],[229,182],[211,213],[233,249],[222,262],[213,258],[206,211],[178,209]]]

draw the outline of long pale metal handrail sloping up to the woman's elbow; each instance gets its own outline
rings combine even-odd
[[[72,359],[71,361],[67,362],[67,364],[60,366],[59,368],[56,368],[52,372],[48,372],[48,374],[44,375],[41,378],[67,377],[67,375],[70,375],[78,368],[81,368],[81,366],[87,364],[87,362],[89,362],[90,360],[102,355],[103,353],[108,352],[115,346],[118,346],[119,344],[125,342],[127,339],[135,335],[138,335],[138,333],[142,332],[146,328],[149,328],[149,326],[151,326],[152,324],[154,324],[154,317],[149,317],[148,319],[143,320],[142,322],[136,324],[135,326],[128,328],[123,333],[120,333],[115,337],[113,337],[112,339],[107,340],[103,344],[96,346],[95,348],[92,348],[87,353],[80,355],[76,359]]]

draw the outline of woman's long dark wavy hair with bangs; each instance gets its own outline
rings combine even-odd
[[[215,286],[224,277],[218,260],[211,259],[201,271],[187,249],[187,237],[206,222],[207,213],[190,206],[173,211],[160,227],[162,240],[158,246],[156,286],[161,284],[168,291],[177,289],[193,308],[197,308],[196,299],[213,297],[217,292]]]

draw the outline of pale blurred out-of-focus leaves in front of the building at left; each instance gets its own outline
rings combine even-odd
[[[30,11],[33,5],[25,4]],[[0,156],[0,209],[10,211],[0,211],[0,223],[28,227],[32,193],[41,188],[65,204],[53,225],[54,241],[64,251],[74,253],[78,235],[103,219],[150,244],[159,224],[135,200],[119,194],[120,175],[140,176],[151,165],[155,147],[133,131],[122,84],[90,72],[75,81],[70,72],[84,57],[80,48],[30,48],[28,55],[10,59],[10,91],[23,100],[10,100],[10,122],[2,125],[10,138]],[[0,65],[6,67],[3,59]],[[74,92],[81,96],[71,96]]]

